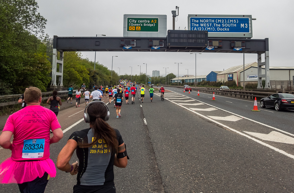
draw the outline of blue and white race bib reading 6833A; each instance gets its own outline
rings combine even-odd
[[[44,146],[45,139],[25,139],[21,158],[32,159],[43,157]]]

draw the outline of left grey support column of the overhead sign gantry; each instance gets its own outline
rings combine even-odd
[[[57,55],[59,52],[59,60]],[[59,71],[57,72],[57,65],[59,65]],[[57,81],[58,76],[58,82]],[[63,87],[63,51],[53,49],[53,59],[52,59],[52,82],[51,88]]]

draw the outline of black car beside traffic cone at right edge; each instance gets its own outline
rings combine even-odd
[[[294,110],[294,95],[276,93],[260,100],[260,107],[273,107],[276,111],[281,109]]]

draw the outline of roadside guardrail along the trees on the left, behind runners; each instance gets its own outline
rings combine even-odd
[[[76,91],[73,91],[73,98],[76,95]],[[66,99],[68,97],[69,91],[57,91],[57,96],[59,96],[61,99]],[[13,95],[4,95],[0,96],[0,101],[4,101],[0,103],[0,107],[9,106],[10,108],[14,108],[15,104],[19,104],[18,99],[20,98],[21,94],[13,94]],[[49,97],[52,96],[51,92],[42,92],[42,100],[47,100]]]

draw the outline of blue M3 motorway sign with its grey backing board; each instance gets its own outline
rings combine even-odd
[[[208,37],[252,38],[251,15],[188,15],[189,30],[208,31]]]

